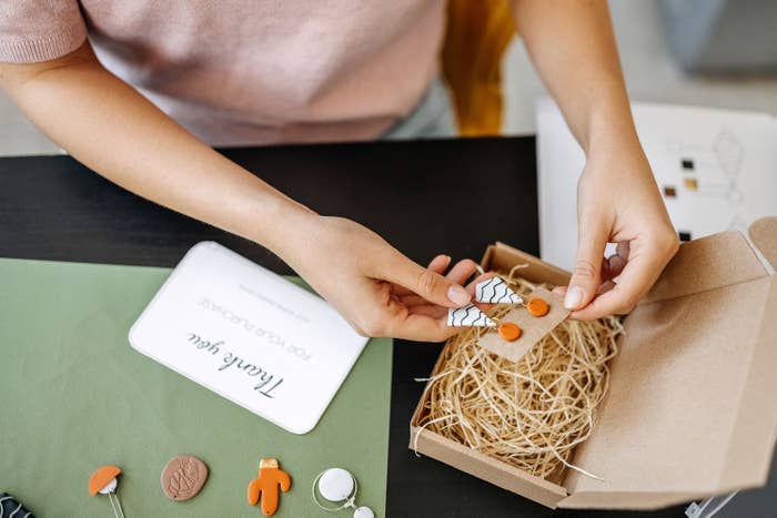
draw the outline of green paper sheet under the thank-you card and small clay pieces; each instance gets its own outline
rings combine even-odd
[[[391,341],[370,342],[315,429],[296,436],[130,347],[130,326],[169,273],[0,258],[0,491],[39,518],[110,517],[108,497],[87,485],[113,464],[127,518],[260,517],[246,490],[259,460],[274,457],[292,477],[276,517],[330,516],[311,485],[332,466],[351,470],[359,505],[384,516]],[[179,454],[210,469],[183,502],[160,486]]]

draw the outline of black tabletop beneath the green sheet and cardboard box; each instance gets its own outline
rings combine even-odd
[[[534,144],[526,136],[222,152],[313,210],[356,220],[426,263],[437,253],[480,261],[495,241],[537,254]],[[130,194],[71,158],[0,159],[0,256],[174,266],[203,240],[291,273],[261,246]],[[407,449],[408,423],[423,385],[413,379],[428,375],[440,349],[404,341],[394,347],[387,516],[683,516],[682,506],[652,514],[553,512],[416,457]]]

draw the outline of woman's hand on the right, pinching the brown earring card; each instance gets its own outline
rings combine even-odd
[[[679,247],[639,141],[625,140],[593,145],[577,184],[577,261],[558,290],[572,318],[629,313]]]

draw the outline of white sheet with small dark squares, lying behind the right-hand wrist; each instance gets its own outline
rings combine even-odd
[[[767,113],[632,103],[639,141],[684,241],[777,213],[777,120]],[[537,103],[539,251],[572,270],[585,154],[558,108]],[[607,255],[613,253],[610,248]]]

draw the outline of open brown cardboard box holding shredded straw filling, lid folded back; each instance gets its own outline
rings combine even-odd
[[[567,469],[556,484],[422,429],[423,398],[411,448],[552,508],[653,509],[763,486],[777,429],[777,217],[749,234],[755,247],[739,232],[683,244],[626,317],[608,396],[572,459],[606,481]],[[518,263],[529,281],[567,283],[502,243],[483,257],[486,270]]]

